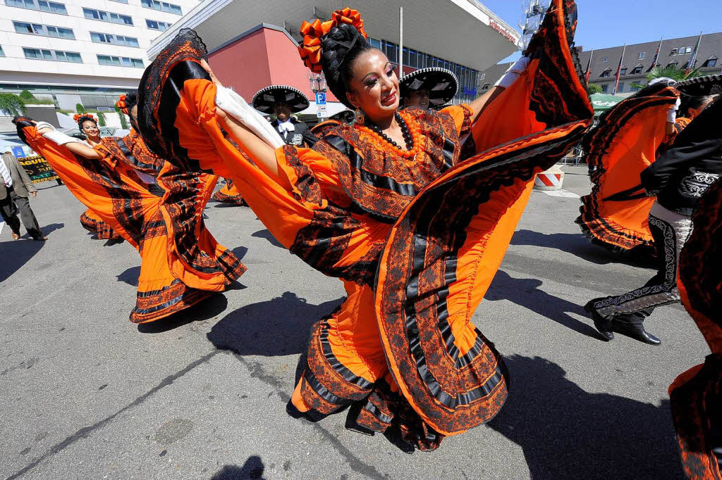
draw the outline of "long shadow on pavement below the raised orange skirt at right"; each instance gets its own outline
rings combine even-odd
[[[656,268],[653,258],[644,252],[615,253],[595,245],[588,237],[579,234],[544,234],[538,231],[518,230],[510,242],[511,245],[548,246],[576,255],[580,259],[596,265],[623,263],[634,267]]]

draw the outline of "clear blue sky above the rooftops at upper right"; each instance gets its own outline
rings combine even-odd
[[[481,2],[521,30],[521,0]],[[722,32],[722,0],[577,0],[577,8],[575,44],[584,50]]]

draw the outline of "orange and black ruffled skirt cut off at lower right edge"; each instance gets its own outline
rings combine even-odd
[[[690,127],[691,128],[691,127]],[[697,205],[695,226],[679,257],[682,303],[712,353],[669,387],[684,471],[690,479],[722,479],[722,182]]]

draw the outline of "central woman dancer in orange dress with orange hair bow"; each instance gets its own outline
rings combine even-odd
[[[396,74],[367,43],[355,10],[305,23],[306,64],[323,69],[331,92],[359,112],[311,149],[283,146],[243,99],[214,83],[192,30],[148,68],[139,126],[149,146],[232,177],[279,242],[344,283],[346,301],[313,326],[296,409],[330,414],[355,404],[360,426],[393,427],[423,450],[497,414],[508,375],[471,315],[534,174],[591,123],[570,44],[575,14],[573,1],[553,1],[500,85],[443,112],[398,110]],[[483,153],[461,161],[460,133],[472,133]]]

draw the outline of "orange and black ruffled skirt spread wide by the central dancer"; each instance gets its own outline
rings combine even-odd
[[[356,404],[360,426],[398,428],[423,450],[499,412],[508,375],[471,316],[534,175],[561,159],[591,123],[571,45],[575,13],[573,1],[552,2],[542,40],[530,47],[530,68],[473,128],[483,153],[433,179],[395,217],[355,208],[359,199],[342,198],[343,188],[327,197],[325,186],[339,175],[319,151],[277,150],[290,191],[245,159],[214,117],[215,86],[199,66],[205,52],[195,32],[181,32],[146,72],[139,123],[154,151],[231,177],[280,243],[344,280],[347,300],[313,326],[292,395],[297,409],[326,414]],[[386,210],[383,201],[375,205]]]

